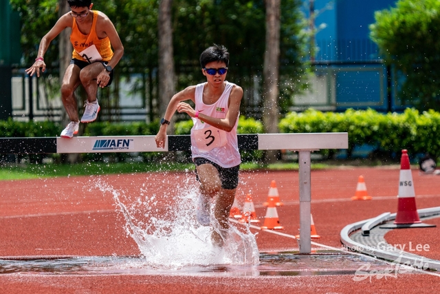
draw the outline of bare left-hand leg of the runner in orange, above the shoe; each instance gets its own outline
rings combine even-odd
[[[80,67],[70,64],[61,83],[61,98],[70,121],[78,122],[78,104],[76,103],[75,90],[80,84]]]

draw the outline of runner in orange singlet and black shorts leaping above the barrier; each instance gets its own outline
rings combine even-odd
[[[54,27],[41,39],[35,63],[26,70],[32,76],[40,76],[46,69],[44,54],[50,42],[65,28],[72,28],[70,41],[74,47],[72,61],[67,67],[61,85],[61,97],[70,123],[61,136],[72,138],[78,133],[80,123],[75,90],[80,83],[87,92],[85,111],[81,123],[96,120],[100,106],[96,99],[99,87],[107,87],[113,78],[113,68],[124,54],[124,47],[111,20],[104,13],[91,10],[91,0],[67,0],[71,12],[64,14]],[[114,52],[112,51],[112,48]]]

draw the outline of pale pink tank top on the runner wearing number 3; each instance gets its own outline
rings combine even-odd
[[[225,118],[228,113],[230,92],[235,84],[225,81],[225,90],[216,103],[207,105],[203,103],[203,88],[206,83],[201,83],[195,88],[195,111],[212,116]],[[236,128],[239,123],[237,116],[231,132],[225,132],[208,123],[203,123],[199,118],[192,118],[194,125],[191,129],[192,159],[203,157],[217,163],[221,167],[235,167],[241,163],[239,144],[236,137]]]

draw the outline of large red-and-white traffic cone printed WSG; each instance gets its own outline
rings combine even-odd
[[[401,151],[399,195],[397,195],[397,214],[394,224],[385,224],[381,228],[435,227],[434,224],[423,224],[415,205],[414,182],[410,168],[408,151]]]

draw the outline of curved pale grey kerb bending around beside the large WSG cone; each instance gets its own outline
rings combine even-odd
[[[417,210],[419,216],[429,217],[436,216],[440,214],[440,207],[432,207],[430,209],[419,209]],[[393,263],[399,263],[404,265],[412,265],[417,266],[418,269],[429,269],[433,271],[440,271],[440,261],[439,260],[431,260],[429,258],[423,258],[423,256],[415,255],[411,253],[406,253],[404,251],[395,250],[383,250],[377,248],[375,246],[369,246],[366,244],[361,244],[360,242],[355,242],[350,238],[350,234],[361,229],[364,224],[370,224],[369,229],[373,229],[373,227],[377,226],[381,222],[378,220],[382,219],[384,221],[395,220],[396,213],[392,213],[390,215],[386,213],[382,213],[380,216],[376,218],[370,218],[368,220],[362,220],[360,222],[355,222],[353,224],[347,224],[347,226],[342,229],[340,232],[340,238],[342,244],[347,246],[347,249],[351,251],[356,251],[359,253],[363,253],[366,255],[373,256],[374,258],[380,258],[382,260],[388,260]],[[366,227],[365,227],[366,229]]]

